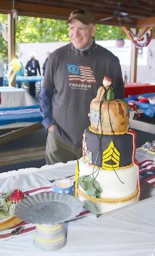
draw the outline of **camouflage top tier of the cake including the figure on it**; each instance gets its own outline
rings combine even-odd
[[[104,76],[103,86],[90,104],[91,130],[98,134],[123,134],[128,130],[128,103],[114,99],[111,79]]]

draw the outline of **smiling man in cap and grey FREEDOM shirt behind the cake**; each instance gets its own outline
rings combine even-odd
[[[124,98],[118,58],[95,44],[93,14],[75,10],[67,23],[71,43],[48,57],[39,94],[43,124],[48,129],[47,164],[81,157],[83,132],[90,125],[90,103],[104,76],[113,81],[115,97]]]

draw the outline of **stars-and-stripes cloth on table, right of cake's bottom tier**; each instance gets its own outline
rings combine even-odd
[[[153,166],[153,160],[140,162],[140,177],[141,180],[155,185],[155,167]]]

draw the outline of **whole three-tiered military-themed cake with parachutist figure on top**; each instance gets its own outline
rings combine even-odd
[[[114,99],[110,85],[111,79],[104,77],[91,101],[83,158],[76,167],[76,196],[100,203],[101,213],[112,210],[113,203],[135,200],[139,190],[136,133],[128,129],[128,103]]]

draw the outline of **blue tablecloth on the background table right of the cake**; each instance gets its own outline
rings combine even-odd
[[[140,94],[140,95],[131,95],[130,97],[125,98],[125,100],[127,102],[129,101],[133,101],[137,107],[143,111],[144,114],[146,114],[146,116],[149,117],[153,117],[155,114],[155,104],[150,104],[150,103],[140,103],[140,101],[138,101],[138,97],[155,97],[155,93],[147,93],[147,94]]]

